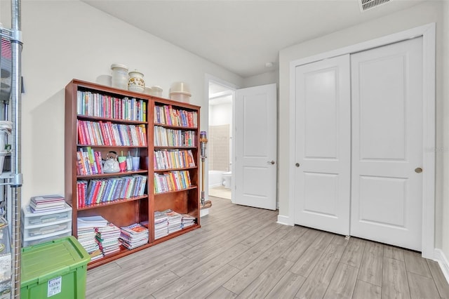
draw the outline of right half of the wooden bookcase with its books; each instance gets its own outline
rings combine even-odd
[[[153,117],[155,227],[152,237],[154,243],[159,243],[200,227],[199,107],[157,99]],[[173,213],[193,221],[160,233],[156,224],[158,213]]]

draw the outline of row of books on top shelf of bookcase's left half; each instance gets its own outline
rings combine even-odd
[[[147,121],[147,101],[136,98],[114,98],[111,95],[78,91],[78,115],[128,121]]]

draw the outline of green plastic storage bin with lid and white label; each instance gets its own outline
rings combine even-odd
[[[20,298],[86,297],[87,251],[75,237],[22,248]]]

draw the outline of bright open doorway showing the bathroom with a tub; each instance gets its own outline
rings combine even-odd
[[[208,195],[232,200],[235,89],[209,80]]]

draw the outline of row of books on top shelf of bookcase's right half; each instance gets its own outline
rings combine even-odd
[[[154,106],[155,124],[196,128],[198,126],[197,117],[198,113],[196,111],[175,109],[172,105]]]

